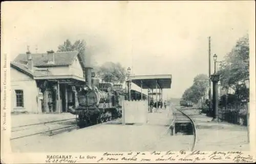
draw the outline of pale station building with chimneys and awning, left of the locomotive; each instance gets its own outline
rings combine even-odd
[[[11,112],[61,113],[85,84],[78,51],[19,54],[10,63]]]

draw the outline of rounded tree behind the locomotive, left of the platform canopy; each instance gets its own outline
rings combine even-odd
[[[96,73],[105,82],[123,83],[125,80],[125,68],[120,63],[105,62],[96,68]]]

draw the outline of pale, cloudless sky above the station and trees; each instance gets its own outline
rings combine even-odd
[[[12,61],[27,45],[39,53],[84,39],[93,64],[119,62],[135,75],[172,74],[163,98],[180,98],[197,74],[208,75],[209,36],[211,54],[221,61],[250,33],[252,3],[4,2],[1,47]]]

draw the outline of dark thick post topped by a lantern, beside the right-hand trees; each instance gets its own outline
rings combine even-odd
[[[220,75],[216,73],[216,61],[217,61],[217,55],[214,54],[214,74],[211,75],[211,81],[212,81],[212,90],[213,90],[213,118],[212,121],[218,122],[218,81],[220,79]],[[211,102],[211,101],[210,101]]]

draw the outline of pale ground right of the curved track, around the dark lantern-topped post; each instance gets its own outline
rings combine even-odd
[[[212,122],[212,118],[200,114],[199,110],[186,110],[195,122],[197,142],[195,150],[200,151],[249,151],[247,127],[227,122]]]

